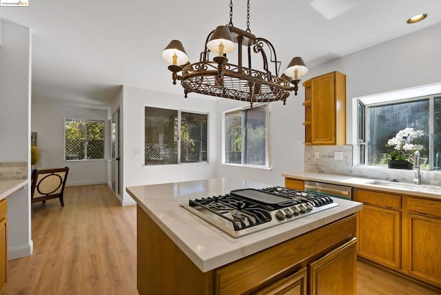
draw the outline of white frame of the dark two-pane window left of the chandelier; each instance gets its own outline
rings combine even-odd
[[[164,164],[160,164],[160,163],[146,164],[145,163],[145,134],[146,134],[145,128],[147,127],[146,124],[145,124],[145,111],[146,111],[147,108],[169,110],[169,111],[174,111],[174,112],[177,113],[177,116],[176,116],[177,126],[176,126],[176,128],[178,130],[178,134],[177,134],[178,140],[176,142],[176,144],[177,144],[177,150],[176,150],[177,160],[176,160],[176,163],[164,163]],[[206,134],[206,136],[207,136],[207,150],[206,150],[207,160],[206,161],[181,162],[181,126],[182,126],[181,114],[183,112],[184,113],[188,113],[188,114],[202,114],[202,115],[207,116],[207,126],[206,126],[206,129],[207,129],[206,130],[206,132],[207,132],[207,134]],[[153,166],[154,167],[154,166],[163,166],[163,165],[192,165],[192,164],[201,164],[201,163],[205,164],[205,163],[209,163],[209,113],[208,112],[198,112],[198,111],[193,111],[193,110],[180,110],[180,109],[176,110],[176,109],[172,109],[172,108],[161,108],[161,107],[152,106],[152,105],[145,105],[144,106],[144,150],[143,150],[143,152],[144,152],[143,166],[145,166],[145,167],[149,167],[149,166]]]

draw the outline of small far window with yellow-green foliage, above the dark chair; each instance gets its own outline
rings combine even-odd
[[[64,119],[65,160],[104,159],[104,121]]]

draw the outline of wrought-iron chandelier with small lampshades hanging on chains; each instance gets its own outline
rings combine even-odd
[[[237,64],[228,62],[227,54],[238,52]],[[269,70],[267,54],[274,63],[274,74]],[[246,50],[247,66],[243,65],[243,50]],[[209,52],[217,54],[212,60]],[[297,95],[300,77],[308,72],[301,57],[294,57],[283,74],[279,76],[280,61],[277,60],[274,46],[264,38],[256,37],[249,29],[249,0],[247,0],[247,30],[233,26],[233,3],[229,2],[229,23],[218,26],[205,40],[205,49],[199,62],[190,63],[181,41],[171,41],[162,52],[162,57],[170,63],[173,84],[181,81],[185,98],[189,92],[248,101],[265,103],[283,101],[291,91]],[[263,70],[252,68],[252,58],[260,55]]]

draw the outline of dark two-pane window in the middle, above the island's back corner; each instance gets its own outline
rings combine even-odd
[[[145,107],[145,165],[207,162],[207,114]]]

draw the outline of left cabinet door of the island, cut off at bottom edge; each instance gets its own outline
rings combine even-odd
[[[302,268],[287,278],[282,278],[276,283],[257,292],[257,295],[306,295],[307,269]]]

